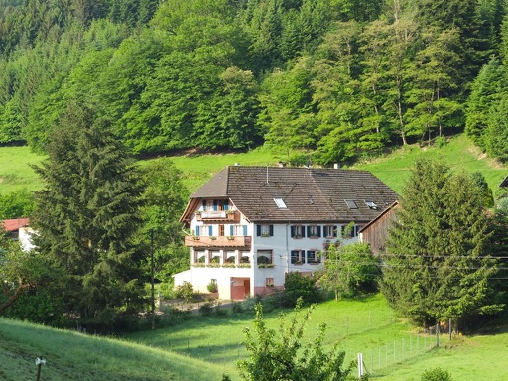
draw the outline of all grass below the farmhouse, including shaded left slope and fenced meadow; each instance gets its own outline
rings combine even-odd
[[[294,312],[286,313],[290,317]],[[277,329],[278,311],[265,316],[268,326]],[[195,316],[169,328],[118,339],[0,318],[0,379],[35,379],[34,359],[44,356],[48,363],[43,379],[51,381],[220,381],[223,372],[237,381],[236,361],[246,355],[240,344],[242,330],[252,327],[252,319],[251,313]],[[305,340],[315,336],[321,322],[327,323],[325,346],[338,340],[347,362],[362,352],[374,380],[419,381],[424,370],[435,366],[449,369],[454,381],[508,378],[506,320],[491,325],[489,331],[451,342],[443,334],[440,347],[432,349],[435,336],[430,339],[428,333],[397,319],[380,295],[320,303]]]

